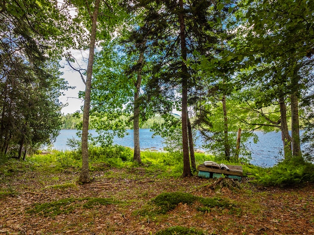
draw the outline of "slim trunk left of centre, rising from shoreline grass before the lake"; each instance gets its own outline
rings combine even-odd
[[[143,57],[144,57],[144,50],[141,50],[139,54],[139,58],[137,61],[137,79],[134,83],[135,85],[135,92],[134,92],[134,117],[133,117],[133,141],[134,141],[134,154],[133,154],[133,161],[137,161],[141,163],[141,150],[139,145],[139,92],[142,83],[142,68],[143,68]]]

